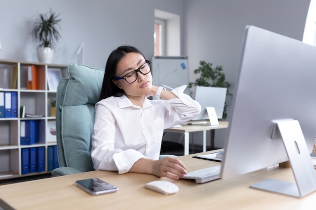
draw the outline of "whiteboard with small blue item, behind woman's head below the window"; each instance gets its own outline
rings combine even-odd
[[[188,57],[187,56],[152,56],[152,84],[172,90],[189,84]],[[184,91],[191,96],[190,89]]]

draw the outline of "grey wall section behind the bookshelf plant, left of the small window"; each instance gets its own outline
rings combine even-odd
[[[0,59],[35,61],[36,42],[31,36],[37,13],[51,8],[60,14],[61,36],[53,63],[78,62],[82,42],[84,64],[104,68],[111,51],[122,44],[153,54],[154,9],[182,16],[183,1],[154,0],[0,0]]]

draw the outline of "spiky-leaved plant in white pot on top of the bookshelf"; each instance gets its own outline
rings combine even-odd
[[[37,47],[37,57],[39,62],[50,63],[54,54],[55,44],[58,42],[60,35],[59,16],[51,10],[46,14],[38,14],[34,21],[33,36],[39,42]]]

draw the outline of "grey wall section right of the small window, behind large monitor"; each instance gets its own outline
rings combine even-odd
[[[193,70],[200,60],[213,62],[223,65],[233,92],[245,26],[302,40],[309,0],[184,0],[184,6],[184,53],[188,55],[190,81],[197,78]],[[227,101],[230,105],[230,98]],[[216,131],[217,147],[223,147],[225,132]]]

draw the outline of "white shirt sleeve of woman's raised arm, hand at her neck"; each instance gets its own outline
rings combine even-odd
[[[166,107],[165,129],[187,122],[201,112],[201,105],[190,96],[183,93],[185,88],[186,85],[183,85],[171,91],[178,98],[163,100]]]

